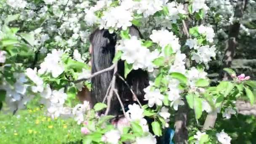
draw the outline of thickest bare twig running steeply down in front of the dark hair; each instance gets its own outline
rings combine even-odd
[[[107,109],[106,109],[105,115],[109,113],[111,99],[113,97],[113,91],[115,88],[115,79],[116,79],[115,73],[117,72],[117,62],[115,62],[114,67],[115,68],[114,68],[114,75],[112,77],[111,88],[109,90],[109,95],[107,96]]]

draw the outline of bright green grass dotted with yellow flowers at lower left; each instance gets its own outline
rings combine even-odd
[[[45,116],[43,108],[28,107],[14,116],[0,112],[0,144],[80,143],[81,126],[74,120],[53,120]]]

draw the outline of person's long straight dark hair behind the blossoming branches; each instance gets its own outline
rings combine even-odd
[[[132,36],[137,36],[142,38],[139,29],[135,26],[129,27],[129,33]],[[90,41],[92,45],[91,53],[91,72],[95,73],[102,69],[106,69],[112,65],[112,60],[115,56],[115,45],[117,42],[117,35],[115,33],[110,34],[107,29],[96,29],[90,36]],[[124,77],[124,61],[118,61],[117,73]],[[101,75],[97,75],[91,79],[91,99],[92,104],[97,102],[102,102],[106,93],[109,84],[111,83],[113,76],[113,70],[105,72]],[[149,76],[148,72],[142,69],[132,70],[127,78],[125,79],[132,88],[133,92],[138,97],[139,101],[142,104],[145,103],[144,91],[143,89],[149,85]],[[124,105],[128,105],[133,101],[132,93],[125,83],[117,77],[116,88],[118,94],[121,97]],[[109,110],[110,115],[118,115],[120,112],[120,104],[117,100],[117,96],[112,97],[111,107]]]

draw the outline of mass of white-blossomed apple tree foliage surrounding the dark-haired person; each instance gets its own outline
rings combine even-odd
[[[165,128],[173,126],[174,113],[188,106],[197,124],[189,125],[189,143],[229,144],[223,131],[205,131],[199,122],[206,114],[235,115],[235,101],[255,103],[256,82],[230,68],[229,81],[211,85],[207,69],[219,52],[219,35],[227,24],[249,21],[256,4],[248,0],[244,17],[234,17],[232,0],[2,0],[0,2],[0,109],[15,114],[40,98],[51,118],[73,118],[81,126],[83,143],[156,143]],[[254,6],[254,7],[253,7]],[[213,19],[213,20],[212,20]],[[144,39],[129,35],[139,27]],[[220,28],[217,27],[217,25]],[[147,105],[129,105],[117,125],[114,116],[97,115],[104,103],[92,109],[77,104],[76,95],[90,81],[88,36],[95,27],[118,34],[113,63],[125,61],[125,77],[132,69],[151,74],[145,88]],[[249,33],[241,24],[242,31]],[[82,55],[80,54],[82,53]],[[152,117],[153,133],[145,117]]]

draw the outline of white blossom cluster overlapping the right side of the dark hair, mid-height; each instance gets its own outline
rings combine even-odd
[[[150,52],[147,47],[141,45],[141,40],[136,36],[120,40],[116,48],[123,52],[122,60],[133,64],[133,69],[147,69],[149,72],[154,70],[155,65],[152,61],[159,56],[159,52],[157,50]]]

